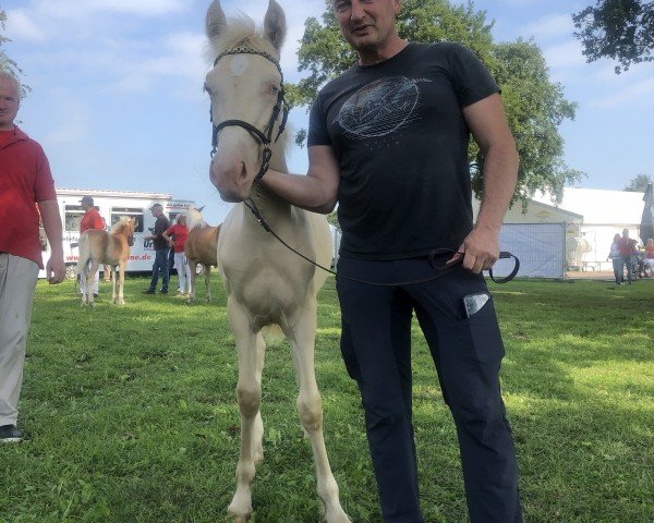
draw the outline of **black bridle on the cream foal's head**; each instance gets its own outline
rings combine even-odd
[[[270,145],[272,143],[277,143],[277,141],[279,139],[279,136],[281,136],[281,133],[283,133],[283,130],[284,130],[286,123],[287,123],[287,119],[289,117],[289,106],[284,100],[283,73],[281,72],[279,62],[275,57],[272,57],[271,54],[268,54],[265,51],[258,51],[256,49],[250,49],[247,47],[235,47],[233,49],[222,51],[220,54],[218,54],[218,57],[216,57],[216,60],[214,60],[214,66],[216,66],[216,64],[218,63],[218,60],[220,60],[222,57],[226,57],[227,54],[258,54],[259,57],[264,57],[269,62],[272,62],[275,64],[275,66],[277,68],[277,71],[279,71],[279,74],[281,76],[281,80],[279,81],[280,89],[277,95],[277,101],[275,104],[275,107],[272,108],[272,114],[270,115],[268,125],[266,125],[266,129],[263,132],[261,130],[258,130],[257,127],[255,127],[254,125],[252,125],[251,123],[244,122],[243,120],[225,120],[225,121],[220,122],[218,125],[214,125],[214,133],[211,136],[211,158],[214,157],[214,155],[216,154],[216,149],[218,148],[218,133],[223,127],[229,127],[229,126],[233,126],[233,125],[243,127],[245,131],[247,131],[252,135],[252,137],[254,139],[256,139],[264,146],[264,151],[262,155],[262,167],[259,169],[259,172],[257,173],[257,175],[254,179],[255,181],[258,181],[264,177],[264,174],[268,170],[268,167],[270,166],[270,158],[272,157],[272,150],[270,149]],[[281,123],[279,124],[279,129],[277,131],[277,136],[275,137],[275,142],[272,142],[272,139],[271,139],[272,138],[272,129],[275,127],[275,123],[279,119],[280,112],[281,112]],[[213,108],[209,109],[209,114],[210,114],[210,120],[211,120],[211,124],[213,124],[214,123]]]

